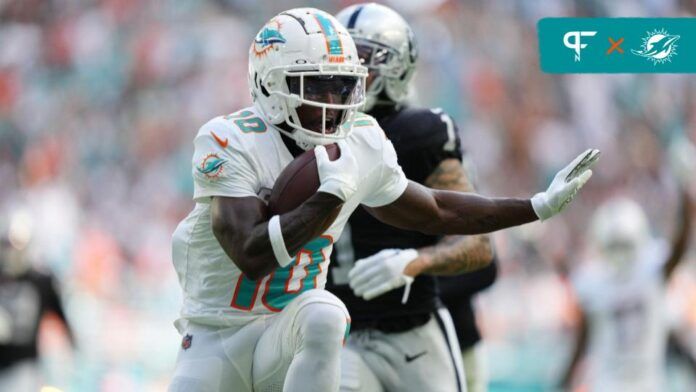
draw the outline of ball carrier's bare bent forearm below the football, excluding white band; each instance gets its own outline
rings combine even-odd
[[[332,223],[334,211],[342,206],[337,197],[317,193],[288,213],[280,215],[280,227],[289,255],[297,253],[306,243],[323,233]],[[255,280],[278,267],[271,240],[268,222],[256,225],[243,245],[246,264],[253,267],[245,274]]]

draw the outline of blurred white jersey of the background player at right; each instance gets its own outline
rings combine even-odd
[[[630,270],[618,273],[606,262],[594,262],[573,276],[588,318],[591,391],[664,389],[666,258],[666,244],[652,241]]]

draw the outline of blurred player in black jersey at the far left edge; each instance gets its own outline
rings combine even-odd
[[[0,215],[0,391],[39,389],[37,341],[47,312],[58,316],[73,341],[55,278],[27,259],[29,219],[21,211]]]

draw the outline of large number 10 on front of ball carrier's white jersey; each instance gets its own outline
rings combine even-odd
[[[317,287],[317,276],[322,270],[321,263],[326,261],[324,249],[332,244],[329,237],[318,237],[310,241],[295,256],[295,262],[283,268],[277,268],[264,286],[261,302],[274,312],[280,312],[285,305],[303,292]],[[300,258],[300,262],[297,262]],[[308,263],[302,263],[308,261]],[[297,264],[305,264],[299,267]],[[301,276],[298,281],[296,278]],[[237,280],[230,306],[240,310],[251,310],[256,301],[261,279],[254,282],[241,275]]]

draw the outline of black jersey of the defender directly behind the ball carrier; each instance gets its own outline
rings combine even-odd
[[[462,160],[457,127],[442,111],[379,107],[370,115],[375,117],[394,144],[399,164],[409,180],[423,184],[443,160]],[[404,288],[364,301],[353,294],[347,274],[355,260],[383,249],[421,248],[437,243],[440,238],[397,229],[378,221],[363,208],[355,210],[334,246],[326,285],[346,304],[352,329],[400,331],[427,322],[440,305],[434,277],[416,277],[408,302],[402,305]]]

